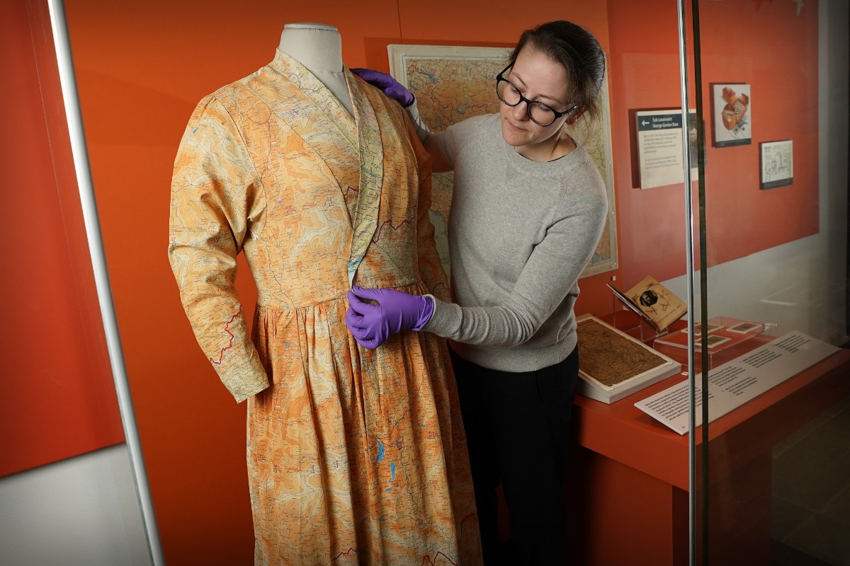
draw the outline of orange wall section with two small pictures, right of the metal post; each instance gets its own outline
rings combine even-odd
[[[753,136],[706,149],[709,265],[819,232],[818,3],[787,4],[700,3],[703,96],[711,82],[750,84]],[[794,141],[794,183],[760,190],[759,143],[781,139]]]

